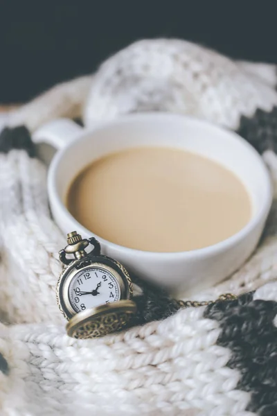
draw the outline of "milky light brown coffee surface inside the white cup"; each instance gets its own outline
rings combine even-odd
[[[208,247],[251,219],[249,194],[234,173],[196,153],[163,147],[92,162],[71,183],[66,206],[102,239],[151,252]]]

